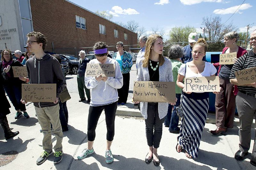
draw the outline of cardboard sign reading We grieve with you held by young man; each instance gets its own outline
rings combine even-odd
[[[53,102],[56,100],[56,84],[22,84],[21,93],[26,102]]]

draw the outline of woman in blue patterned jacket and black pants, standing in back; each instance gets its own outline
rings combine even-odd
[[[127,102],[129,84],[130,84],[130,71],[132,68],[132,56],[130,53],[124,50],[123,42],[119,41],[116,43],[117,52],[114,53],[113,59],[119,63],[123,74],[124,85],[118,91],[118,104],[124,105]]]

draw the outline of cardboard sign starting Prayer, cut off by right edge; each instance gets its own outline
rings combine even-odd
[[[235,75],[239,85],[254,83],[256,82],[256,67],[237,71]]]

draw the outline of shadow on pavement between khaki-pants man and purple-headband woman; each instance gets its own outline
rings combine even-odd
[[[63,132],[63,137],[67,136],[68,137],[68,143],[74,144],[74,145],[80,145],[82,143],[87,142],[87,134],[84,133],[83,131],[77,130],[71,125],[68,125],[68,131]],[[84,140],[84,138],[86,139]],[[82,141],[82,143],[81,143]]]

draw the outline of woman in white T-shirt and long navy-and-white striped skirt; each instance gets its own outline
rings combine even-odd
[[[183,89],[180,102],[184,116],[181,118],[176,151],[181,152],[184,148],[188,158],[197,158],[209,109],[209,92],[185,92],[183,79],[185,77],[215,76],[216,68],[211,63],[203,61],[207,47],[205,40],[199,38],[192,49],[193,60],[182,64],[178,71],[177,85]]]

